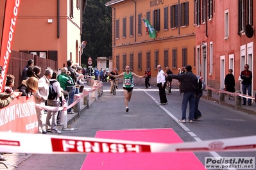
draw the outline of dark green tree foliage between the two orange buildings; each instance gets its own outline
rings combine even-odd
[[[81,63],[85,65],[89,57],[96,66],[96,58],[112,56],[112,9],[105,6],[108,1],[87,0],[81,35],[81,40],[87,42],[81,56]]]

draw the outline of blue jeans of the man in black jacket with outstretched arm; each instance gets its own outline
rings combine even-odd
[[[186,120],[187,103],[189,102],[189,120],[194,119],[194,103],[196,93],[184,93],[182,99],[182,120]]]

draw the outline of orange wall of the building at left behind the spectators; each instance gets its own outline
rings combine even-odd
[[[60,1],[60,29],[57,37],[57,1],[21,1],[19,18],[13,40],[13,50],[58,51],[58,68],[68,59],[79,63],[80,10],[74,1],[74,18],[69,17],[69,1]],[[4,2],[0,2],[1,29],[3,27]],[[52,19],[52,23],[48,23]],[[2,31],[2,30],[1,30]],[[1,37],[0,37],[1,38]],[[71,58],[72,54],[72,58]]]

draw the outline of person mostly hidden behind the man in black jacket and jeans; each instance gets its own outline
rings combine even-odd
[[[201,112],[198,109],[200,98],[203,95],[203,89],[205,89],[205,81],[203,81],[203,77],[200,75],[196,76],[198,78],[198,95],[196,96],[196,100],[194,102],[194,120],[198,120],[202,117]]]

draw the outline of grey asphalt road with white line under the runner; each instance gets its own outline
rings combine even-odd
[[[126,112],[121,84],[115,96],[110,95],[109,88],[110,84],[104,84],[103,96],[73,122],[71,128],[74,130],[63,131],[61,135],[94,137],[98,130],[138,128],[173,128],[184,142],[256,135],[256,116],[234,111],[203,98],[199,106],[203,114],[200,120],[194,123],[177,123],[182,117],[182,95],[178,89],[173,89],[167,95],[169,104],[159,105],[157,87],[145,89],[143,85],[135,86],[128,105],[130,110]],[[204,164],[205,157],[255,157],[256,152],[205,152],[195,155]],[[15,169],[80,169],[85,157],[85,154],[35,154]]]

